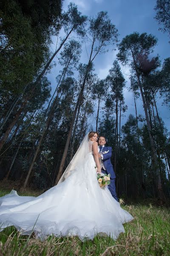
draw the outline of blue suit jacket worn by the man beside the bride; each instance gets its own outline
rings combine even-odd
[[[113,165],[111,163],[112,156],[112,148],[111,147],[103,147],[102,152],[108,151],[108,153],[103,154],[103,165],[105,166],[106,173],[111,174],[111,179],[115,179],[116,175],[113,170]]]

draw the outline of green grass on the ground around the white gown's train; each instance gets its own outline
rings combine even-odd
[[[0,191],[0,196],[9,190]],[[38,195],[30,191],[20,195]],[[134,220],[124,224],[125,233],[116,241],[96,236],[93,241],[80,241],[77,237],[48,237],[45,241],[22,236],[14,227],[0,232],[0,256],[114,256],[114,255],[170,255],[170,209],[153,204],[123,206]]]

